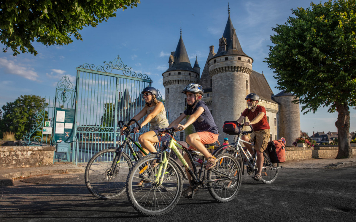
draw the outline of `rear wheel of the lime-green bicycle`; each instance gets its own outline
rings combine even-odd
[[[236,158],[228,153],[216,157],[216,166],[208,170],[209,193],[218,202],[229,202],[235,198],[241,186],[241,169]]]

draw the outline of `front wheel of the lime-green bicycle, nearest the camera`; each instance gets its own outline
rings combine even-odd
[[[152,162],[159,158],[158,154],[143,157],[137,161],[127,176],[127,197],[132,206],[146,216],[158,216],[171,211],[182,193],[182,174],[173,162],[168,162],[168,173],[164,174],[162,185],[156,185],[159,166],[155,168],[151,166]]]

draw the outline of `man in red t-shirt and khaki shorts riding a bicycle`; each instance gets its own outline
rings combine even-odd
[[[269,140],[269,124],[267,122],[267,115],[265,107],[257,105],[260,101],[260,97],[255,93],[250,93],[246,96],[245,100],[247,101],[248,108],[242,112],[241,116],[237,121],[239,123],[248,118],[248,121],[245,121],[245,126],[252,125],[253,132],[242,136],[242,140],[247,142],[255,141],[255,150],[257,152],[257,172],[252,176],[254,180],[261,181],[261,173],[263,166],[263,151],[266,150],[268,140]],[[253,149],[250,144],[244,143],[248,151],[253,153]]]

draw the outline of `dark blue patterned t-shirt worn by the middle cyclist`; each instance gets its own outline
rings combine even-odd
[[[203,107],[204,112],[193,123],[195,131],[197,132],[208,131],[208,132],[212,132],[213,134],[219,134],[218,126],[216,126],[213,116],[211,115],[210,110],[208,109],[204,101],[198,101],[194,109],[192,108],[185,109],[184,114],[192,115],[193,113],[195,113],[195,111],[197,111],[198,107]]]

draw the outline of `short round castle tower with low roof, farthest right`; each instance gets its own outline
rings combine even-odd
[[[278,118],[278,139],[284,137],[286,146],[293,146],[293,142],[300,136],[300,115],[299,104],[292,103],[294,100],[292,93],[286,93],[284,90],[273,99],[279,105]]]

